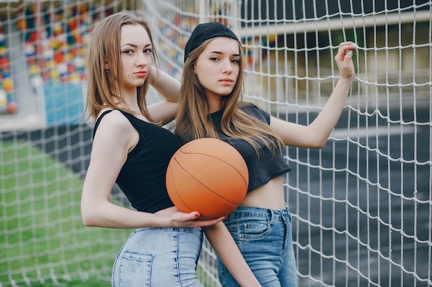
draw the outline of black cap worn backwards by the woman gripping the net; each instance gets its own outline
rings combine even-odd
[[[195,27],[186,42],[186,46],[184,47],[184,61],[186,62],[189,53],[195,50],[204,41],[216,37],[228,37],[240,43],[234,32],[226,27],[226,25],[219,22],[201,23]]]

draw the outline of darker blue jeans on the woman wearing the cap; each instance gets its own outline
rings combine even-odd
[[[224,223],[263,287],[297,286],[288,208],[273,210],[239,206]],[[219,259],[217,272],[222,286],[239,286]]]

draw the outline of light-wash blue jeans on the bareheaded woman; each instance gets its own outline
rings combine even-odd
[[[113,287],[199,287],[195,274],[203,235],[199,228],[139,228],[119,251]]]

